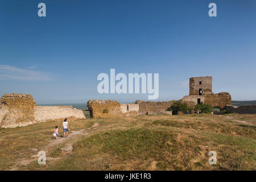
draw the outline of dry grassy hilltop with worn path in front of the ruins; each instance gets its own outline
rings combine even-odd
[[[255,170],[253,114],[143,115],[0,129],[1,170]],[[60,135],[63,131],[60,130]],[[46,165],[38,164],[46,151]],[[217,152],[217,165],[208,163]]]

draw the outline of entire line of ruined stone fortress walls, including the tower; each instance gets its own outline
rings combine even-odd
[[[189,79],[189,96],[181,102],[193,109],[203,102],[211,107],[226,109],[228,113],[256,114],[256,106],[232,106],[228,92],[213,93],[212,77],[192,77]],[[87,102],[90,117],[111,118],[146,114],[171,115],[171,105],[175,101],[151,102],[135,101],[135,104],[120,104],[112,100],[90,100]],[[26,126],[38,122],[59,121],[64,118],[85,119],[82,110],[72,106],[37,106],[30,94],[5,94],[0,98],[0,127]]]

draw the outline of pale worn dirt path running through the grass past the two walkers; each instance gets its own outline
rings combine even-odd
[[[77,130],[77,131],[70,131],[68,133],[68,137],[66,137],[66,138],[64,138],[64,137],[59,137],[59,139],[53,139],[52,138],[51,140],[49,140],[47,142],[46,146],[44,146],[42,149],[40,149],[40,151],[46,152],[46,156],[47,156],[47,154],[49,154],[49,151],[52,150],[52,148],[57,147],[60,144],[65,143],[65,146],[61,148],[61,151],[65,152],[66,154],[69,154],[73,150],[73,143],[75,143],[81,136],[92,133],[92,131],[97,129],[98,126],[99,126],[98,123],[94,123],[94,125],[92,127],[89,127],[87,129],[82,129],[82,130]],[[36,148],[33,148],[32,150],[38,151]],[[32,155],[29,159],[28,158],[22,158],[22,159],[16,160],[13,167],[11,167],[11,169],[9,169],[9,170],[10,171],[16,171],[16,170],[19,169],[19,166],[22,166],[22,165],[26,166],[27,164],[30,164],[30,163],[34,162],[35,160],[38,160],[38,158],[39,158],[38,155]],[[61,159],[61,158],[48,158],[48,157],[46,157],[46,160],[59,160],[59,159]]]

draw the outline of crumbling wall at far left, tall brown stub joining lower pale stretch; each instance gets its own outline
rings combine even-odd
[[[72,106],[36,106],[30,94],[5,94],[0,98],[0,127],[26,126],[63,118],[83,118]]]

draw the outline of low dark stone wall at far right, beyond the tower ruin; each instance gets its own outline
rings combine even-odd
[[[244,106],[226,105],[225,109],[228,113],[256,114],[256,105],[244,105]]]

